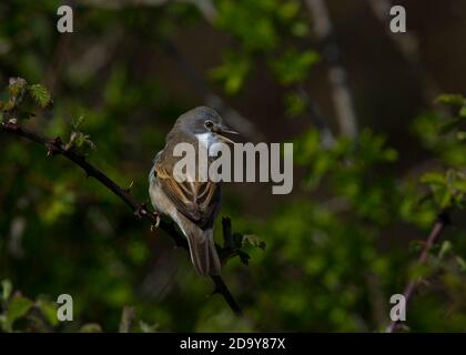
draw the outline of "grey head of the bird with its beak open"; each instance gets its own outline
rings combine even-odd
[[[223,133],[233,133],[236,132],[230,130],[222,120],[222,116],[213,109],[207,106],[194,108],[185,113],[183,113],[175,122],[173,132],[183,132],[185,134],[203,134],[203,133],[213,133],[220,139],[224,139]]]

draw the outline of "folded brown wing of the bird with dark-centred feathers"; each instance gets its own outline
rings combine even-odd
[[[173,163],[161,154],[155,161],[154,173],[166,194],[189,220],[205,230],[212,226],[220,207],[220,184],[213,182],[178,182],[173,175]]]

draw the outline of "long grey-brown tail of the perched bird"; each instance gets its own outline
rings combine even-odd
[[[190,229],[186,231],[191,261],[197,274],[202,276],[220,274],[220,258],[213,240],[213,229]]]

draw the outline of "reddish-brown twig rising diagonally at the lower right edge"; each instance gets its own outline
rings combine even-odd
[[[430,250],[430,247],[439,240],[442,232],[445,230],[445,227],[449,224],[449,215],[448,212],[443,211],[438,214],[437,221],[435,222],[434,226],[432,227],[430,234],[427,237],[427,241],[425,242],[423,250],[421,251],[419,257],[417,258],[417,264],[424,264],[427,255],[428,255],[428,251]],[[416,286],[419,284],[421,280],[412,280],[408,282],[405,292],[403,293],[404,297],[405,297],[405,304],[407,307],[407,304],[409,302],[409,300],[413,296],[414,291],[416,290]],[[396,331],[396,326],[398,324],[398,321],[392,321],[389,327],[388,327],[388,333],[393,333]]]

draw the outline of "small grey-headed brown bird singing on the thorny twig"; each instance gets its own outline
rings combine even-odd
[[[149,194],[156,213],[169,215],[188,239],[191,260],[200,275],[219,275],[221,263],[213,240],[213,224],[221,204],[221,185],[211,179],[199,176],[179,182],[173,170],[182,156],[174,156],[178,143],[191,143],[196,153],[199,148],[209,150],[213,143],[227,142],[223,133],[227,129],[214,110],[199,106],[182,114],[165,138],[165,146],[153,161],[149,174]],[[207,164],[213,160],[209,158]]]

